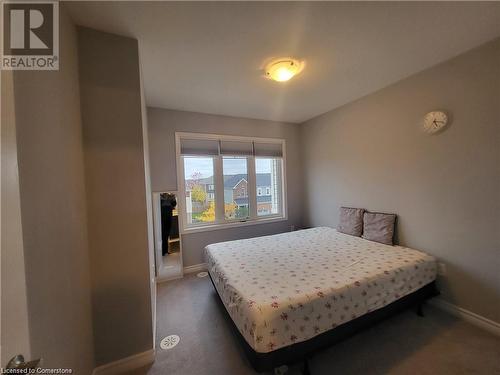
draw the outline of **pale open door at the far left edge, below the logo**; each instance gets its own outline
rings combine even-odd
[[[16,140],[14,72],[1,73],[1,359],[31,358]]]

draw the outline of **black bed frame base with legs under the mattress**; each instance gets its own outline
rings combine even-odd
[[[222,302],[221,296],[219,295],[219,292],[215,287],[210,273],[209,276],[217,293],[217,296],[219,297],[219,300],[223,305],[223,309],[226,312],[229,320],[232,322],[234,330],[237,332],[238,341],[240,341],[240,344],[243,347],[248,361],[257,372],[271,371],[274,368],[282,365],[291,365],[303,362],[304,367],[302,373],[304,375],[308,375],[310,374],[308,360],[312,355],[314,355],[314,353],[325,349],[335,343],[338,343],[385,318],[388,318],[411,307],[416,308],[417,314],[419,316],[423,316],[422,306],[425,301],[427,301],[429,298],[439,295],[439,292],[436,288],[436,282],[433,281],[430,284],[427,284],[424,287],[416,290],[415,292],[390,303],[387,306],[362,315],[329,331],[323,332],[318,336],[313,337],[312,339],[285,346],[269,353],[258,353],[250,345],[248,345],[245,338],[241,335],[240,331],[229,315],[229,312],[226,310],[226,307]]]

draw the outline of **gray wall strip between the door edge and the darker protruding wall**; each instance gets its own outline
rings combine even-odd
[[[90,374],[94,357],[77,36],[63,6],[60,11],[61,69],[14,73],[31,357],[43,357],[45,367]]]

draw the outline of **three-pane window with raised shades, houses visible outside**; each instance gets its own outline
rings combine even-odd
[[[283,140],[176,133],[176,145],[184,230],[285,218]]]

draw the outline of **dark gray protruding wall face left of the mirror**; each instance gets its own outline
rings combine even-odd
[[[80,28],[96,363],[153,347],[137,40]]]

